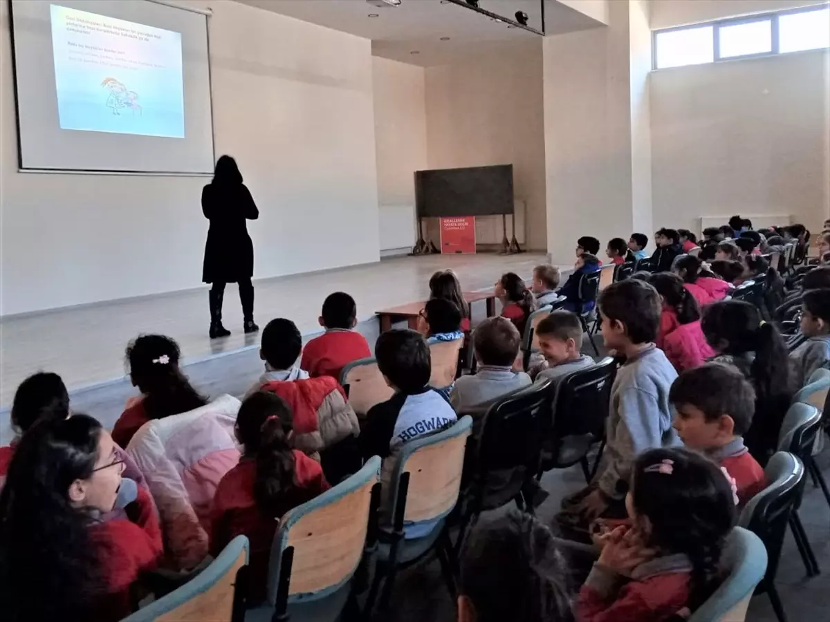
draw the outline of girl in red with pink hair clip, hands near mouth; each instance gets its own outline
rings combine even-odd
[[[626,497],[631,524],[597,538],[602,552],[579,591],[577,622],[688,617],[717,586],[736,503],[734,481],[701,454],[640,454]]]

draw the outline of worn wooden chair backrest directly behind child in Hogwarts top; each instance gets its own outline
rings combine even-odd
[[[472,428],[469,415],[437,434],[422,436],[400,449],[391,480],[392,498],[406,489],[403,521],[433,521],[452,512],[461,487],[466,440]],[[402,483],[406,480],[406,486]]]

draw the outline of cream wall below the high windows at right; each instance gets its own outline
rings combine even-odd
[[[828,51],[651,75],[655,226],[699,216],[830,216]]]

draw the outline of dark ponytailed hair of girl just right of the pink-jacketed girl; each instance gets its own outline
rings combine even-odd
[[[709,304],[701,328],[709,345],[722,354],[740,356],[754,352],[749,376],[759,400],[792,393],[787,347],[778,329],[763,321],[754,304],[744,300]]]

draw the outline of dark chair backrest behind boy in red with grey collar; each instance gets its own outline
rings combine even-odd
[[[778,570],[790,513],[801,496],[804,466],[793,454],[779,451],[769,459],[764,475],[769,484],[749,499],[740,513],[738,524],[764,542],[769,556],[766,576],[773,577]]]

